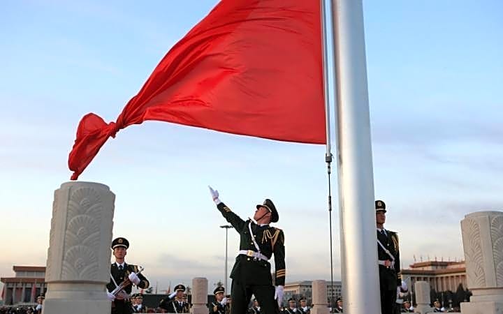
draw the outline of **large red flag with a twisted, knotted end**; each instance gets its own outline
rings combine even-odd
[[[82,118],[71,179],[108,137],[146,120],[324,144],[319,0],[222,0],[180,40],[117,121]]]

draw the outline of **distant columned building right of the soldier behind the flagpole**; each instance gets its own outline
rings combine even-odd
[[[455,292],[460,284],[467,288],[465,261],[416,262],[409,267],[410,269],[402,269],[402,279],[412,287],[416,281],[426,281],[437,292],[447,290]]]

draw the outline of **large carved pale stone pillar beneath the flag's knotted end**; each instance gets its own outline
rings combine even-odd
[[[110,313],[110,243],[115,195],[72,181],[54,191],[43,313]]]

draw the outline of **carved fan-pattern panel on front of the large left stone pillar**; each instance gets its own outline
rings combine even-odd
[[[71,191],[61,279],[98,280],[100,222],[103,202],[94,188]]]

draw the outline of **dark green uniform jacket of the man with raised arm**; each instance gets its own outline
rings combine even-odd
[[[217,205],[221,214],[228,223],[240,234],[240,250],[256,251],[251,237],[255,238],[260,253],[270,259],[272,253],[275,255],[275,285],[285,283],[285,251],[284,234],[282,230],[269,225],[259,226],[251,219],[242,220],[234,214],[224,203]],[[250,234],[248,225],[251,224]],[[244,285],[272,285],[270,263],[265,260],[254,260],[254,257],[238,255],[235,259],[231,278]]]

